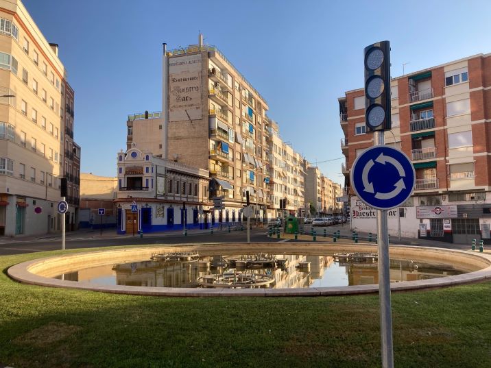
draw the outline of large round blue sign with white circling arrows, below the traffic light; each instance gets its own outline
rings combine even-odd
[[[411,160],[398,149],[387,146],[370,147],[353,162],[352,188],[359,199],[379,210],[403,204],[416,182]]]

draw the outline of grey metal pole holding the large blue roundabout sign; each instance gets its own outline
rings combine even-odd
[[[383,131],[374,132],[374,145],[383,145]],[[387,210],[376,210],[376,232],[379,246],[379,297],[382,367],[394,368],[392,346],[392,310],[390,306],[390,260]]]

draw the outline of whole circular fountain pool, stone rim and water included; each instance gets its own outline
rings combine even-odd
[[[339,295],[374,293],[376,245],[243,243],[124,247],[24,262],[15,280],[139,295]],[[491,257],[427,247],[390,247],[392,291],[491,277]]]

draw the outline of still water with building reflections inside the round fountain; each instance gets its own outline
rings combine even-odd
[[[154,260],[88,267],[56,278],[101,285],[203,287],[199,281],[235,275],[241,285],[275,289],[377,284],[377,262],[346,262],[333,256],[298,254],[243,254],[238,256],[154,257]],[[411,260],[390,260],[391,282],[440,278],[462,273],[452,265],[435,265]],[[245,275],[237,278],[237,275]],[[262,286],[248,280],[270,280]],[[249,283],[249,284],[248,284]],[[213,286],[206,284],[207,287]],[[228,286],[230,287],[230,286]]]

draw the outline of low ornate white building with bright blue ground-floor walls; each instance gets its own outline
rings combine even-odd
[[[237,221],[238,211],[221,219],[210,210],[207,170],[131,147],[117,154],[117,180],[118,234],[207,229]]]

